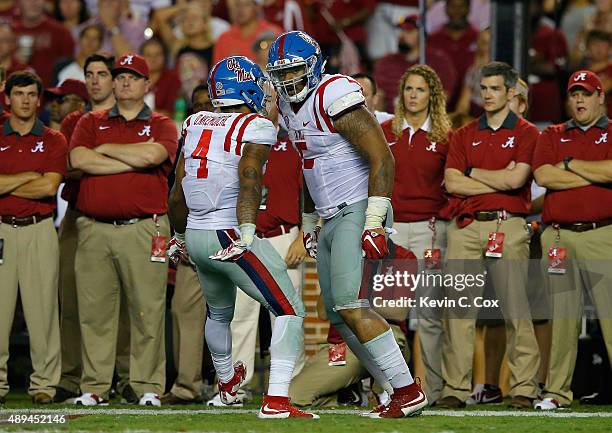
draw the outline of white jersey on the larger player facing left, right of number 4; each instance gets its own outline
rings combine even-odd
[[[297,113],[288,102],[279,99],[278,103],[279,116],[302,156],[308,191],[325,219],[368,197],[369,165],[336,132],[328,114],[332,103],[353,92],[361,93],[361,86],[351,77],[323,75]]]

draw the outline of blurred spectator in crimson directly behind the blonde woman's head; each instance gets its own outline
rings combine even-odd
[[[419,18],[411,15],[404,18],[400,24],[398,40],[399,52],[389,54],[380,59],[374,68],[374,79],[384,92],[384,110],[394,111],[395,98],[398,96],[399,81],[406,69],[419,63]],[[444,90],[451,94],[457,84],[457,73],[452,66],[451,59],[443,51],[433,48],[430,44],[425,47],[425,61],[430,65],[442,80]]]

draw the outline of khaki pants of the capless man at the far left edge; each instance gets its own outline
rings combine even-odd
[[[48,218],[25,227],[0,223],[0,239],[4,239],[4,263],[0,265],[0,397],[9,391],[9,336],[18,290],[34,368],[28,393],[54,396],[61,359],[57,311],[59,251],[53,220]]]

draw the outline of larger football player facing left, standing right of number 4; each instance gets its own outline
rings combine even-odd
[[[299,31],[274,41],[266,66],[279,94],[279,115],[302,154],[304,244],[316,255],[332,325],[393,394],[386,406],[365,415],[415,415],[427,398],[413,380],[389,324],[367,299],[359,299],[362,249],[368,259],[389,253],[385,225],[393,221],[393,156],[364,106],[359,83],[344,75],[324,75],[324,66],[319,44]],[[319,217],[324,220],[320,231]]]

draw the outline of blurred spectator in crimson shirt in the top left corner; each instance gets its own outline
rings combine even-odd
[[[32,66],[43,86],[49,87],[55,62],[73,56],[74,40],[66,27],[45,15],[45,0],[19,0],[19,9],[21,19],[15,23],[18,59]]]

